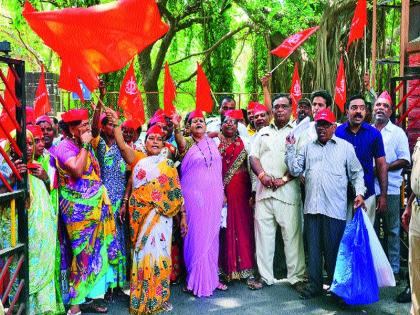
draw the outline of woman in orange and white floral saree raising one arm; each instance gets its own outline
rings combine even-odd
[[[117,124],[114,112],[108,115]],[[127,164],[131,165],[133,191],[129,199],[130,237],[133,261],[130,281],[130,313],[151,314],[171,310],[170,295],[172,218],[182,209],[184,199],[178,173],[171,160],[160,154],[163,132],[158,126],[146,134],[147,154],[124,142],[121,128],[115,140]],[[181,229],[186,234],[182,213]]]

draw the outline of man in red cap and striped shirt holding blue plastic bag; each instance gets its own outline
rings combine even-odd
[[[364,206],[363,169],[353,146],[334,135],[336,121],[329,109],[315,116],[317,140],[296,152],[293,136],[286,139],[286,163],[293,176],[305,172],[305,234],[308,240],[309,284],[300,297],[323,293],[322,266],[331,282],[338,247],[346,227],[347,185],[356,190],[355,207]],[[323,256],[322,256],[323,255]],[[324,257],[324,259],[322,259]]]

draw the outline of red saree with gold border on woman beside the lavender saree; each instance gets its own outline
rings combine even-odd
[[[223,159],[223,185],[227,198],[226,229],[221,231],[219,266],[227,280],[244,279],[253,275],[255,268],[248,154],[239,137],[230,144],[222,141],[219,151]]]

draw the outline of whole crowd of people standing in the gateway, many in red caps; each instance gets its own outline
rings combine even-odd
[[[245,114],[227,97],[220,116],[207,120],[196,110],[181,123],[158,110],[146,132],[102,101],[91,119],[73,109],[58,124],[28,108],[27,163],[9,141],[2,147],[29,174],[29,313],[106,313],[101,296],[122,299],[132,314],[170,311],[173,282],[197,297],[238,280],[263,289],[279,282],[279,237],[299,297],[332,294],[341,237],[358,207],[376,227],[383,222],[398,278],[402,170],[411,157],[406,134],[390,120],[388,93],[372,104],[350,97],[339,124],[330,93],[314,91],[294,120],[290,96],[271,99],[267,80],[264,104],[251,102]],[[105,93],[101,85],[101,100]],[[412,160],[402,224],[411,217],[412,314],[419,314],[420,142]],[[15,184],[5,161],[0,169]],[[16,238],[10,213],[0,204],[0,249]]]

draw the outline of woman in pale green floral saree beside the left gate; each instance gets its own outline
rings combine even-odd
[[[15,138],[15,132],[12,138]],[[8,141],[4,150],[14,161],[17,170],[24,174],[29,171],[28,199],[28,253],[29,253],[29,314],[63,313],[64,306],[57,290],[58,281],[55,273],[55,254],[57,245],[57,212],[51,204],[47,185],[49,182],[36,171],[41,166],[33,163],[34,137],[26,131],[28,163],[23,164],[16,158]],[[1,164],[5,163],[4,161]],[[7,167],[6,167],[7,168]],[[3,169],[3,167],[2,167]],[[12,174],[11,172],[8,172]],[[14,181],[14,175],[9,177]],[[47,177],[48,178],[48,177]],[[17,222],[12,229],[9,207],[0,207],[0,249],[9,247],[16,240]],[[16,217],[15,217],[16,219]],[[14,230],[14,231],[13,231]],[[13,263],[11,271],[15,269]],[[14,291],[14,290],[13,290]]]

